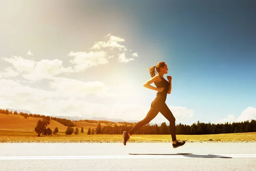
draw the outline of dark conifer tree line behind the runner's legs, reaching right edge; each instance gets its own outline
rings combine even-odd
[[[135,123],[134,123],[135,124]],[[133,125],[106,125],[101,127],[100,123],[98,124],[95,134],[122,134],[124,130],[131,130]],[[205,124],[203,122],[197,122],[192,125],[176,125],[176,134],[182,135],[200,135],[200,134],[218,134],[218,133],[246,133],[246,132],[256,132],[256,120],[248,120],[245,122],[233,122],[224,123],[224,124],[211,124],[210,122]],[[94,129],[94,128],[93,128]],[[93,132],[88,130],[89,134]],[[88,134],[88,133],[87,133]],[[163,122],[160,126],[157,124],[154,125],[144,125],[139,130],[135,131],[134,134],[170,134],[169,125],[166,125],[166,122]]]

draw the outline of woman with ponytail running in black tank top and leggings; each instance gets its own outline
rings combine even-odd
[[[157,114],[160,112],[163,114],[163,116],[168,119],[170,122],[170,133],[172,135],[172,147],[177,148],[185,144],[185,141],[179,142],[176,139],[176,130],[175,130],[175,117],[172,115],[171,110],[166,105],[166,96],[167,93],[170,94],[172,90],[172,77],[167,76],[168,81],[163,78],[164,74],[167,74],[168,68],[165,62],[159,62],[157,66],[148,68],[151,79],[149,79],[143,86],[146,88],[149,88],[151,90],[157,91],[157,96],[151,103],[151,108],[148,111],[147,116],[138,122],[130,131],[124,131],[123,132],[123,143],[126,145],[126,142],[129,140],[130,136],[134,134],[134,132],[138,129],[140,129],[143,125],[148,124],[152,119],[154,119]],[[156,75],[156,71],[158,72],[158,75]],[[156,85],[156,87],[151,86],[150,84]]]

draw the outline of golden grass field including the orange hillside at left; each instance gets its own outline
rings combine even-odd
[[[84,127],[84,133],[79,135],[65,135],[67,126],[60,124],[54,120],[50,121],[47,126],[54,130],[58,127],[58,135],[37,136],[35,126],[41,118],[29,117],[25,119],[23,116],[14,114],[0,113],[0,142],[121,142],[122,135],[87,135],[87,129],[96,128],[97,123],[87,123],[84,121],[76,121],[77,128],[81,130]],[[102,127],[105,124],[101,124]],[[122,124],[118,124],[122,125]],[[76,127],[74,128],[76,129]],[[256,142],[256,132],[253,133],[227,133],[227,134],[210,134],[210,135],[177,135],[178,140],[186,140],[187,142]],[[133,135],[129,142],[169,142],[170,135]]]

